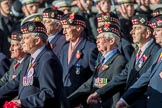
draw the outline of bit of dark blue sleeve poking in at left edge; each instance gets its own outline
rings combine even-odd
[[[9,70],[11,61],[3,54],[0,53],[0,78]]]

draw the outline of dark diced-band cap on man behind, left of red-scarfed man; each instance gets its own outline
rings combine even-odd
[[[46,8],[42,14],[43,18],[53,18],[57,20],[60,20],[63,15],[64,13],[59,11],[55,6],[53,8]]]

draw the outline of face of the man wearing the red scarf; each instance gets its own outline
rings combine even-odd
[[[66,41],[75,41],[78,38],[76,27],[72,25],[63,25],[63,34],[65,35]]]

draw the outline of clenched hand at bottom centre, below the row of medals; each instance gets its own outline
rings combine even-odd
[[[88,104],[97,104],[101,100],[100,96],[97,94],[97,92],[94,92],[87,98]]]

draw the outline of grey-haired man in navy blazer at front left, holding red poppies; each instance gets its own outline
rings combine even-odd
[[[1,96],[19,88],[18,97],[9,103],[16,107],[60,107],[62,67],[56,55],[46,46],[46,28],[41,22],[22,25],[22,48],[31,54],[19,77],[0,88]],[[5,105],[8,105],[6,103]]]

